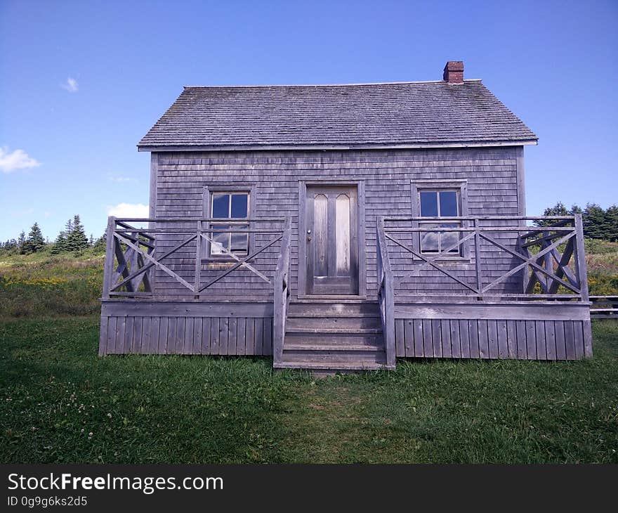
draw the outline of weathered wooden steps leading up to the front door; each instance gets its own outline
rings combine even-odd
[[[386,346],[377,301],[291,301],[278,369],[316,374],[386,368]]]

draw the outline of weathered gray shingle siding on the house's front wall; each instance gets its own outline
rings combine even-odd
[[[367,259],[367,294],[376,291],[376,216],[416,216],[412,212],[411,181],[423,179],[466,179],[467,214],[470,216],[520,215],[521,195],[518,194],[518,147],[454,148],[423,150],[349,150],[349,151],[289,151],[289,152],[164,152],[154,154],[156,162],[156,208],[160,217],[199,217],[204,214],[204,186],[254,186],[256,216],[291,216],[291,285],[298,285],[298,185],[299,181],[349,180],[364,181],[365,189],[365,249]],[[153,164],[154,165],[154,164]],[[361,213],[362,214],[362,213]],[[502,235],[513,245],[514,233]],[[257,235],[256,245],[266,236]],[[169,240],[169,246],[174,245]],[[435,290],[461,290],[438,271],[412,264],[395,247],[395,276],[413,274],[397,280],[398,294],[423,294]],[[485,245],[485,250],[489,247]],[[278,245],[256,259],[256,267],[272,275]],[[167,259],[169,266],[192,283],[195,266],[190,257],[195,247],[188,246]],[[508,270],[511,259],[498,253],[488,254],[483,265],[487,280]],[[493,256],[492,256],[493,255]],[[219,266],[219,269],[221,266]],[[458,275],[473,276],[473,264],[449,266]],[[202,283],[221,271],[202,266]],[[361,277],[361,280],[363,277]],[[472,279],[472,278],[471,278]],[[496,290],[519,292],[517,276]],[[189,297],[190,292],[164,273],[157,273],[159,292],[169,297]],[[228,297],[270,295],[272,287],[249,271],[235,271],[209,289],[209,294]],[[206,294],[202,296],[206,299]]]

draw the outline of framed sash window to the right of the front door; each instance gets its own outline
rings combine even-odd
[[[465,180],[412,181],[412,215],[420,218],[414,226],[462,228],[462,221],[436,218],[466,216],[466,189]],[[423,221],[423,217],[433,219]],[[440,254],[440,259],[461,259],[466,257],[466,245],[457,245],[462,237],[463,234],[456,231],[423,231],[413,238],[413,245],[423,254]]]

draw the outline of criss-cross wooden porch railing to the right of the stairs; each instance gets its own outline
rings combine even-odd
[[[527,226],[530,221],[539,221],[544,226]],[[433,223],[433,226],[429,226],[428,223]],[[437,223],[450,226],[438,227]],[[555,217],[388,217],[379,219],[377,226],[378,259],[381,259],[379,283],[381,276],[386,280],[386,276],[390,273],[386,266],[386,262],[390,261],[388,256],[388,242],[390,242],[391,245],[402,249],[413,263],[433,268],[439,275],[447,276],[460,289],[456,292],[433,290],[427,293],[430,297],[589,301],[584,234],[579,214]],[[420,247],[424,233],[446,233],[451,234],[451,237],[445,243],[446,247],[438,246],[439,252],[428,253],[421,251]],[[456,234],[456,240],[453,240],[453,233]],[[511,245],[504,241],[505,236],[509,234],[513,238]],[[407,240],[401,240],[402,238]],[[499,275],[495,273],[486,275],[483,272],[484,266],[495,265],[497,254],[506,255],[511,260],[510,264],[507,264],[508,269],[497,271]],[[505,259],[500,258],[504,267]],[[465,276],[460,275],[456,265],[458,261],[467,264],[464,266],[466,271],[470,267],[473,268],[472,278],[469,273]],[[500,284],[513,276],[519,280],[517,291],[497,290]],[[414,277],[415,275],[397,275],[396,278],[414,280]],[[384,290],[386,298],[390,294],[388,288],[388,282],[383,283],[380,288]]]

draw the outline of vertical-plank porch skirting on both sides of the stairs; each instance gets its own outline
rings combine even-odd
[[[592,356],[588,304],[395,304],[398,358]],[[272,300],[103,301],[100,355],[272,355]]]

